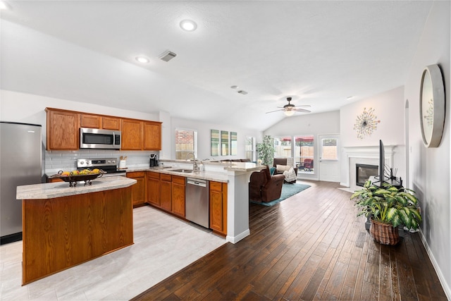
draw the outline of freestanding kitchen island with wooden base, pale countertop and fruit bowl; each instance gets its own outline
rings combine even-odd
[[[23,212],[23,285],[133,244],[132,185],[125,177],[92,185],[18,186]]]

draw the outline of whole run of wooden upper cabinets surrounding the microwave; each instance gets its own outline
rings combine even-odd
[[[46,108],[47,149],[80,148],[80,128],[121,130],[123,150],[161,150],[161,122]]]

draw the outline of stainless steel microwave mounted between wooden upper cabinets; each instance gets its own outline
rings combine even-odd
[[[121,149],[121,131],[80,128],[80,149]]]

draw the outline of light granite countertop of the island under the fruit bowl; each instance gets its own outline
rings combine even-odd
[[[17,187],[16,198],[20,200],[53,199],[55,197],[68,197],[90,192],[127,188],[134,185],[136,182],[136,180],[131,178],[113,176],[108,178],[96,178],[91,181],[92,185],[84,185],[84,182],[78,182],[75,187],[69,187],[69,183],[67,182],[23,185]]]

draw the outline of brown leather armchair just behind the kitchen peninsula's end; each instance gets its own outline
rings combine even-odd
[[[269,166],[251,174],[249,180],[249,200],[254,202],[271,202],[280,198],[285,176],[271,176]]]

